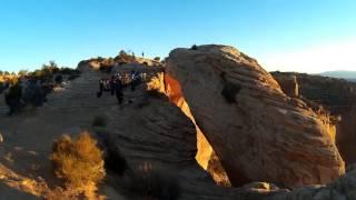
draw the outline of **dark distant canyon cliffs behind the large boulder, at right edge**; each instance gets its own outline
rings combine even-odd
[[[356,162],[356,83],[305,73],[273,72],[278,82],[284,86],[286,77],[295,76],[300,96],[329,110],[333,116],[340,116],[337,122],[336,144],[346,164]],[[285,92],[290,92],[286,87]]]

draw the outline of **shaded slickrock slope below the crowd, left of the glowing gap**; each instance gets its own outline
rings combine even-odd
[[[0,132],[4,137],[4,142],[0,144],[0,163],[3,169],[16,174],[26,174],[23,180],[31,182],[26,192],[39,198],[50,192],[37,192],[39,189],[36,186],[40,183],[37,177],[42,177],[49,187],[58,184],[49,161],[53,140],[62,133],[76,136],[88,129],[92,133],[97,132],[99,139],[110,137],[110,141],[126,156],[131,168],[149,163],[152,168],[175,173],[182,183],[181,199],[217,200],[240,196],[240,190],[226,190],[215,186],[211,177],[196,162],[194,123],[179,108],[165,99],[164,94],[160,98],[146,92],[151,81],[159,80],[158,77],[162,76],[162,69],[147,69],[136,64],[113,68],[113,72],[147,70],[144,72],[147,72],[147,81],[150,81],[148,86],[139,86],[135,92],[125,90],[125,103],[121,107],[109,93],[96,97],[99,80],[110,77],[110,73],[92,70],[89,63],[83,63],[80,69],[81,76],[51,93],[43,107],[18,116],[0,117]],[[2,103],[1,107],[4,107]],[[91,129],[91,122],[97,116],[108,118],[108,128],[103,132]],[[20,196],[23,192],[22,179],[12,180],[2,172],[0,170],[0,182],[10,187],[20,186],[14,188]],[[111,173],[108,173],[108,179],[120,181],[120,178]],[[13,184],[8,184],[9,182]],[[9,196],[4,197],[10,197],[11,192],[7,189]],[[111,184],[106,183],[100,187],[98,196],[123,199]]]

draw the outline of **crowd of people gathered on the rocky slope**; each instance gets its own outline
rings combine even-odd
[[[135,91],[136,87],[142,81],[142,73],[132,70],[129,76],[129,81],[125,80],[125,78],[121,73],[117,73],[116,76],[111,76],[110,79],[100,79],[97,97],[101,98],[102,92],[110,92],[111,96],[116,96],[118,103],[122,104],[123,88],[130,86],[131,91]]]

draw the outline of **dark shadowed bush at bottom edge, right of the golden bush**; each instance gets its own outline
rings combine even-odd
[[[147,164],[132,172],[126,188],[127,196],[132,199],[176,200],[181,193],[177,177],[165,170],[155,170]]]

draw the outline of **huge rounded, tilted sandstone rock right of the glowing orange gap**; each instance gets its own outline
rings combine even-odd
[[[233,186],[300,187],[344,173],[330,121],[287,97],[256,60],[231,47],[201,46],[171,51],[166,71],[180,83]]]

